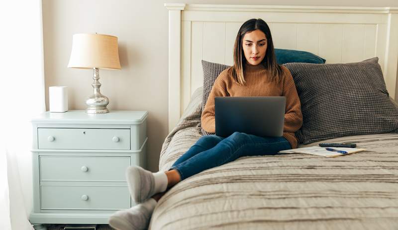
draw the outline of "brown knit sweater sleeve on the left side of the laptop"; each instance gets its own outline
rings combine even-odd
[[[215,133],[215,117],[214,117],[214,98],[228,96],[226,90],[225,74],[223,71],[215,79],[213,87],[210,90],[206,104],[201,115],[201,126],[207,133]]]

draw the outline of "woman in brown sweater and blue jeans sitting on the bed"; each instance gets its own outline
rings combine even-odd
[[[152,173],[138,166],[126,171],[131,197],[138,205],[118,211],[109,218],[117,230],[148,227],[156,203],[165,191],[205,169],[233,161],[241,156],[275,154],[295,149],[295,132],[302,125],[300,101],[293,77],[276,62],[270,29],[262,19],[243,23],[234,45],[234,65],[216,78],[201,114],[202,128],[215,132],[214,97],[285,96],[286,110],[282,137],[257,137],[235,132],[227,138],[202,136],[166,172]]]

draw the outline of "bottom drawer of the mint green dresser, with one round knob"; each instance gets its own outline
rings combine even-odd
[[[119,210],[130,208],[124,186],[42,185],[41,209]]]

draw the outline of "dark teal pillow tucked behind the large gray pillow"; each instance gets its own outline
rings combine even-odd
[[[314,63],[314,64],[324,64],[326,62],[325,59],[319,56],[316,56],[306,51],[298,51],[298,50],[275,49],[275,56],[277,58],[277,63],[280,65],[292,62]]]

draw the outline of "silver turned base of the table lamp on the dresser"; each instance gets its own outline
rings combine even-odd
[[[109,104],[109,99],[100,93],[101,83],[98,81],[100,79],[100,69],[93,68],[93,79],[92,84],[94,93],[86,100],[87,109],[86,113],[109,113],[106,106]]]

